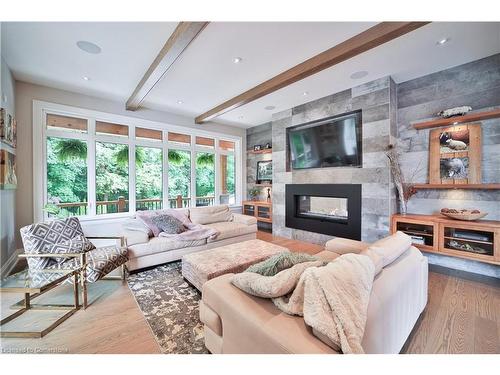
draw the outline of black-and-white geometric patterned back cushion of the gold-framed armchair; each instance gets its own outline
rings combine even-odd
[[[26,254],[43,254],[46,247],[83,236],[82,226],[76,217],[27,225],[20,232]],[[57,262],[50,258],[28,258],[28,267],[34,270],[54,263]]]

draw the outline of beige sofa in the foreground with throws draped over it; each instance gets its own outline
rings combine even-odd
[[[318,256],[332,260],[368,246],[337,238]],[[399,353],[427,304],[427,258],[413,246],[395,260],[390,257],[384,258],[374,280],[362,341],[365,353]],[[203,285],[200,318],[212,353],[336,353],[313,335],[303,318],[246,294],[231,278],[226,274]]]

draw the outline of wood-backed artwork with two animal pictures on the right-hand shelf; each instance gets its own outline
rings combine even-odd
[[[481,183],[480,124],[431,130],[429,142],[429,183]]]

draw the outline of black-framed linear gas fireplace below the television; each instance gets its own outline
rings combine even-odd
[[[290,184],[285,194],[287,227],[361,239],[361,185]]]

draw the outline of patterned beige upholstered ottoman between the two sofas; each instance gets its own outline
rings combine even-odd
[[[201,291],[203,284],[226,273],[243,272],[252,264],[287,248],[261,240],[243,241],[182,257],[182,276]]]

